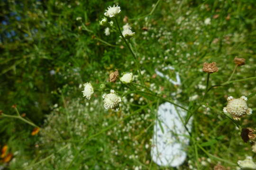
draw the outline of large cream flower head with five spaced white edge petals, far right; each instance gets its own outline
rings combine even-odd
[[[252,109],[247,106],[247,97],[241,96],[235,99],[232,96],[228,97],[228,104],[223,108],[224,113],[229,113],[235,120],[240,120],[245,114],[252,114]]]

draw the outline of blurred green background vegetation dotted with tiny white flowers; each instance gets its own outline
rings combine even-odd
[[[15,115],[11,106],[16,105],[20,114],[26,114],[24,118],[42,128],[32,136],[34,127],[0,118],[0,146],[8,145],[8,153],[13,154],[11,161],[2,160],[0,166],[13,170],[172,169],[159,167],[150,158],[155,113],[163,100],[134,93],[126,96],[116,113],[103,109],[102,93],[95,93],[90,101],[82,97],[85,82],[96,89],[106,83],[108,88],[128,91],[120,82],[107,82],[115,69],[137,75],[119,35],[106,36],[105,27],[99,26],[105,9],[113,4],[122,10],[119,23],[124,25],[127,16],[136,32],[131,41],[146,86],[166,99],[190,110],[198,107],[206,84],[207,75],[201,71],[204,62],[215,61],[219,67],[210,85],[229,79],[235,57],[247,62],[232,80],[256,75],[254,0],[2,0],[0,110]],[[155,69],[165,66],[179,72],[182,85],[155,75]],[[175,78],[174,71],[163,73]],[[181,170],[210,170],[218,163],[233,170],[238,160],[254,155],[222,109],[229,95],[246,95],[255,112],[255,83],[255,79],[235,82],[208,93],[205,107],[193,116],[191,143],[197,144],[188,147]],[[242,127],[256,128],[254,114],[241,120]]]

